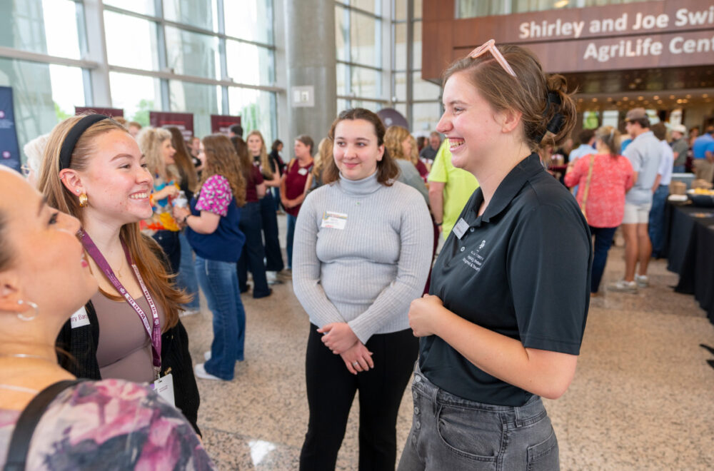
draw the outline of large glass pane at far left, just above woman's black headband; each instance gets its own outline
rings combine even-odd
[[[74,115],[74,106],[85,104],[78,67],[0,58],[0,86],[13,89],[20,153],[26,143],[52,131],[57,121]]]

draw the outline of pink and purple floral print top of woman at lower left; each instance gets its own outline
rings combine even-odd
[[[0,408],[0,466],[18,410]],[[111,464],[110,464],[111,463]],[[213,470],[196,433],[153,391],[123,380],[79,383],[60,393],[37,425],[28,470]]]

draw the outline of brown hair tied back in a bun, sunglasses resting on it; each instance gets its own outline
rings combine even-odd
[[[538,57],[528,49],[506,44],[498,46],[498,50],[511,65],[516,77],[508,74],[491,54],[483,54],[476,59],[465,57],[453,62],[444,72],[443,85],[453,74],[465,72],[471,84],[494,110],[523,113],[523,141],[531,151],[547,145],[557,148],[570,136],[575,126],[575,101],[571,96],[575,92],[568,92],[568,83],[562,75],[544,74]],[[548,100],[549,92],[557,95],[560,105]],[[546,126],[556,113],[560,113],[563,120],[560,126],[556,126],[559,127],[557,132],[551,133]]]

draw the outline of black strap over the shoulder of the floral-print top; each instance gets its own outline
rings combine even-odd
[[[30,401],[20,414],[15,424],[15,430],[12,432],[4,471],[24,471],[32,434],[47,406],[59,393],[82,381],[84,380],[64,380],[51,384]]]

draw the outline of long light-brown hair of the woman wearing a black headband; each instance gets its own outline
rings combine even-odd
[[[54,127],[45,148],[42,172],[39,178],[38,189],[47,199],[47,204],[63,213],[71,214],[84,226],[84,211],[79,207],[76,195],[72,194],[59,179],[59,154],[62,143],[67,134],[84,116],[72,116],[61,121]],[[89,166],[89,161],[96,152],[96,138],[110,131],[122,131],[129,135],[124,126],[111,119],[98,121],[82,134],[71,156],[69,168],[84,172]],[[121,226],[119,237],[124,240],[131,257],[134,258],[136,267],[139,268],[141,277],[144,278],[149,292],[157,303],[164,309],[166,325],[164,332],[173,328],[178,323],[178,309],[190,298],[183,292],[174,288],[174,275],[166,273],[166,268],[159,255],[151,248],[151,242],[142,236],[139,223],[128,223]],[[96,275],[95,275],[96,276]]]

